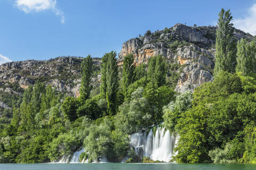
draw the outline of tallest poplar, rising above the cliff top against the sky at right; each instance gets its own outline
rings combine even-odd
[[[219,13],[218,29],[216,31],[215,76],[220,71],[235,72],[236,40],[234,39],[232,19],[230,10],[225,11],[222,8]]]

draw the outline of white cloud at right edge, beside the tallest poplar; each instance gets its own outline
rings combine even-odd
[[[253,4],[247,11],[247,15],[244,18],[234,19],[235,28],[241,29],[245,32],[249,32],[252,35],[256,35],[256,4]]]

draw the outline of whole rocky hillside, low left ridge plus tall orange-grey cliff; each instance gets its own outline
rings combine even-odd
[[[175,91],[193,91],[213,80],[216,27],[189,27],[175,24],[171,28],[132,38],[123,43],[118,55],[122,67],[125,55],[132,53],[135,64],[147,63],[162,55],[168,61],[167,84]],[[235,30],[237,39],[255,39],[249,33]],[[19,106],[24,89],[35,82],[53,86],[62,95],[79,96],[81,57],[57,57],[45,61],[26,60],[0,65],[0,123],[10,121],[12,106]],[[93,94],[99,93],[101,58],[93,58]],[[6,108],[6,109],[5,109]],[[4,111],[5,109],[5,111]]]

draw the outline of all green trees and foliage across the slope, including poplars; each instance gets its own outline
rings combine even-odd
[[[256,163],[256,47],[244,39],[236,46],[231,20],[229,10],[222,9],[214,81],[194,94],[173,91],[181,68],[175,62],[155,56],[135,66],[130,54],[121,75],[116,52],[110,52],[102,57],[101,85],[95,91],[89,55],[81,64],[79,97],[63,97],[36,82],[22,99],[6,99],[13,109],[4,109],[0,118],[0,163],[55,162],[82,148],[79,160],[90,163],[125,157],[126,163],[159,162],[137,155],[129,135],[160,124],[179,135],[172,159],[178,163]],[[185,44],[175,42],[173,48]]]

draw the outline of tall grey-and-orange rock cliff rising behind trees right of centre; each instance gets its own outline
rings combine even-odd
[[[178,63],[181,67],[175,91],[194,91],[197,86],[213,80],[216,29],[178,23],[169,29],[130,39],[123,43],[118,63],[122,65],[124,56],[131,53],[136,65],[147,63],[150,57],[162,55],[169,63]],[[237,39],[255,39],[240,30],[235,30],[235,36]]]

